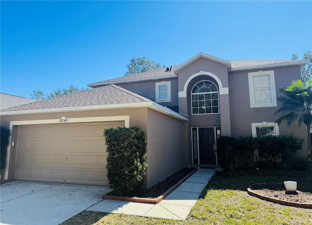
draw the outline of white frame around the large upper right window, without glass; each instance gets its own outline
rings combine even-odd
[[[254,83],[253,77],[259,75],[270,75],[270,85],[271,85],[271,98],[272,102],[267,103],[254,103]],[[276,107],[276,89],[275,89],[275,79],[274,79],[274,71],[258,71],[248,73],[248,82],[249,82],[249,98],[250,98],[250,108],[259,108],[259,107]]]

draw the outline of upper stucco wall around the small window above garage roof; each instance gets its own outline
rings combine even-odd
[[[155,102],[156,100],[156,82],[171,81],[171,102],[158,103],[163,106],[178,106],[178,91],[177,91],[177,77],[158,79],[158,80],[147,80],[141,82],[129,82],[118,84],[118,86],[127,89],[133,93],[139,94],[143,97],[151,99]]]

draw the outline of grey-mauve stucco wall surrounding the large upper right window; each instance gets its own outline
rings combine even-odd
[[[299,66],[281,67],[262,69],[263,71],[274,71],[276,96],[281,95],[279,93],[279,87],[288,86],[293,79],[301,79]],[[233,137],[244,137],[252,135],[252,123],[261,122],[274,122],[279,118],[282,113],[278,113],[274,116],[281,104],[277,103],[277,107],[262,107],[251,108],[250,107],[250,95],[248,84],[248,73],[253,71],[239,71],[229,73],[229,96],[230,96],[230,113],[231,113],[231,130]],[[222,129],[222,128],[221,128]],[[301,129],[298,129],[298,123],[294,122],[291,127],[287,127],[283,122],[279,126],[280,135],[293,134],[299,138],[306,139],[306,129],[303,125]],[[299,151],[297,155],[307,156],[306,142],[303,145],[303,150]]]

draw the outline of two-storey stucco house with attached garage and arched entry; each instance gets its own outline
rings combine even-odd
[[[300,79],[305,63],[199,53],[178,66],[3,110],[1,126],[12,130],[5,179],[107,185],[105,127],[144,129],[145,188],[189,165],[218,167],[220,135],[306,138],[296,124],[273,123],[278,87]]]

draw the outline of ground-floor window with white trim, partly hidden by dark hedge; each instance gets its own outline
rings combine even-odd
[[[278,136],[279,128],[277,123],[252,123],[252,133],[253,137]],[[258,150],[255,150],[254,155],[254,160],[259,160],[261,159],[261,156],[263,156]]]

